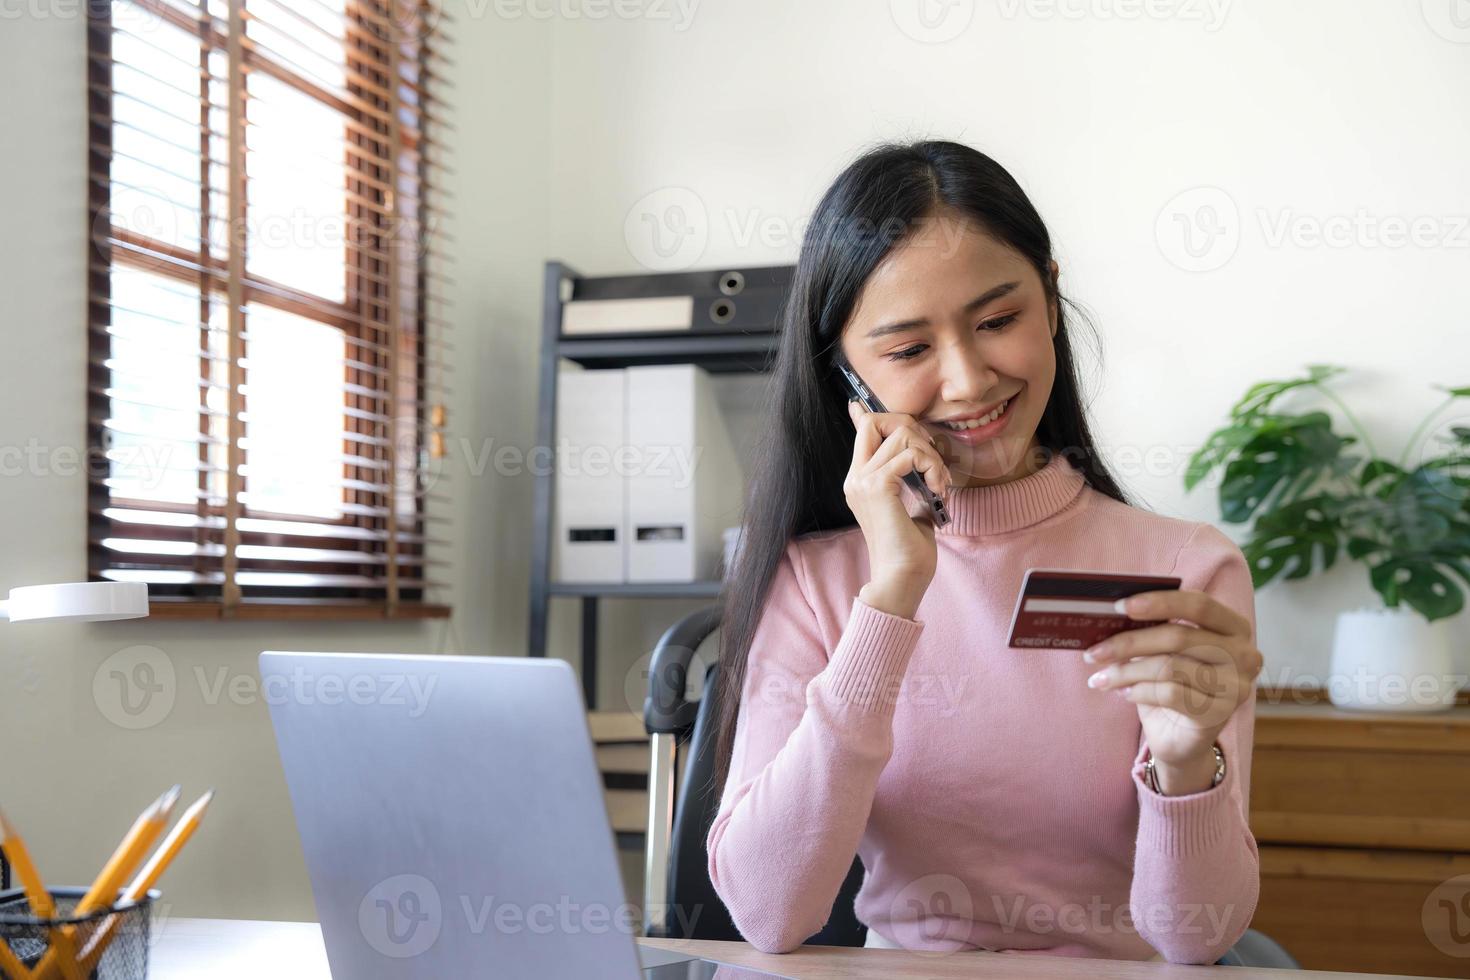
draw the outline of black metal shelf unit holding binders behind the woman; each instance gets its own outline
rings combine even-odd
[[[545,264],[541,320],[537,445],[556,460],[557,363],[588,369],[631,364],[698,364],[711,373],[766,373],[776,350],[776,313],[791,284],[791,266],[701,269],[626,276],[582,276],[562,262]],[[563,336],[562,311],[572,300],[692,297],[691,329]],[[597,708],[597,610],[601,598],[714,598],[719,582],[612,583],[551,580],[551,517],[556,475],[535,475],[531,545],[531,655],[547,654],[553,597],[582,602],[582,693]]]

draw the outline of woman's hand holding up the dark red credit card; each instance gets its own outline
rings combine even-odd
[[[1125,608],[1129,619],[1198,626],[1166,621],[1107,638],[1083,655],[1098,669],[1088,685],[1125,692],[1138,705],[1144,739],[1158,763],[1191,767],[1213,760],[1220,730],[1252,696],[1264,666],[1250,620],[1194,589],[1139,592]]]

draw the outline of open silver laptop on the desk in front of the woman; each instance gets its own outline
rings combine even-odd
[[[775,976],[638,946],[566,661],[268,651],[260,680],[337,980]]]

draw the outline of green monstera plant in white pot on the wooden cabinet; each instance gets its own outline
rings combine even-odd
[[[1420,711],[1454,704],[1463,676],[1452,620],[1470,588],[1470,413],[1467,388],[1410,436],[1398,460],[1377,454],[1363,425],[1323,382],[1342,367],[1310,364],[1304,378],[1266,381],[1230,408],[1229,422],[1191,457],[1185,488],[1217,469],[1220,513],[1251,523],[1241,545],[1255,588],[1304,579],[1339,555],[1366,566],[1380,605],[1338,616],[1329,698],[1348,708]],[[1277,401],[1314,395],[1338,406],[1351,433],[1320,410],[1283,411]],[[1433,438],[1430,438],[1433,436]]]

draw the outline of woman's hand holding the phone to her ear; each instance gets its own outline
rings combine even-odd
[[[895,607],[885,611],[911,619],[933,579],[939,552],[928,508],[904,486],[903,478],[919,470],[929,489],[944,497],[950,467],[913,416],[867,411],[857,401],[848,401],[847,407],[857,438],[842,492],[867,541],[870,582],[864,591]]]

